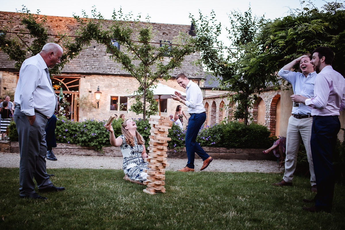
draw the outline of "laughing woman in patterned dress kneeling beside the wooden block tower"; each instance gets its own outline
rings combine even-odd
[[[122,169],[125,172],[125,180],[130,182],[143,184],[146,180],[147,173],[144,169],[147,168],[147,158],[144,138],[137,131],[135,121],[127,119],[122,123],[122,135],[115,138],[114,129],[111,124],[105,126],[110,131],[110,144],[115,147],[120,147],[124,163]]]

